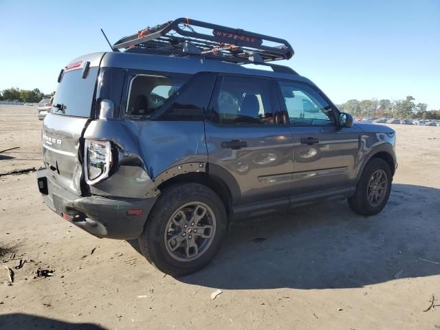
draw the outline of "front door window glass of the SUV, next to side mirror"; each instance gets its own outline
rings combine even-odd
[[[294,126],[334,124],[330,104],[311,87],[285,81],[278,82],[289,122]]]

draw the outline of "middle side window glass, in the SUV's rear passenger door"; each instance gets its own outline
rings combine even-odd
[[[218,124],[274,124],[269,80],[225,76],[212,108]]]

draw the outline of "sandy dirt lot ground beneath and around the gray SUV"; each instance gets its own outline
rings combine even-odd
[[[440,329],[440,127],[393,128],[399,168],[382,213],[333,201],[238,223],[183,278],[136,242],[96,239],[48,210],[34,173],[0,176],[0,243],[12,249],[0,328]],[[41,166],[40,129],[35,108],[0,106],[0,151],[19,146],[0,173]],[[439,306],[424,311],[432,296]]]

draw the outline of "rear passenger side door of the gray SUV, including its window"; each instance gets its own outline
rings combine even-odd
[[[292,189],[293,138],[278,123],[272,80],[217,78],[207,121],[208,162],[232,175],[239,187],[234,206],[288,206]]]

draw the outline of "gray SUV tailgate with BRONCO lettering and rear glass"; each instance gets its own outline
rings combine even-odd
[[[65,67],[52,109],[43,122],[43,162],[49,179],[77,195],[83,173],[80,139],[91,118],[101,57],[80,59]]]

